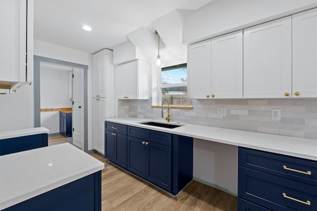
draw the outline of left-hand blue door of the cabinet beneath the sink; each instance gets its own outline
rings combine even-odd
[[[145,140],[128,136],[127,169],[146,178],[146,145]]]

